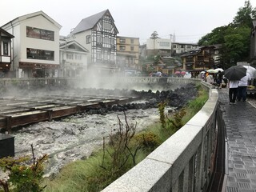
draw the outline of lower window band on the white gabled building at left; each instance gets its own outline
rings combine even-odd
[[[54,61],[54,51],[26,48],[26,58]]]

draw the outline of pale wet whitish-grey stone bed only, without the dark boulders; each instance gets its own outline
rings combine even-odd
[[[167,112],[167,111],[166,111]],[[102,147],[103,137],[118,131],[118,117],[124,122],[123,112],[74,115],[60,121],[38,122],[14,132],[15,156],[32,155],[34,146],[36,157],[49,154],[46,176],[57,173],[67,162],[88,158],[93,150]],[[137,132],[151,123],[158,122],[158,109],[129,110],[126,118]]]

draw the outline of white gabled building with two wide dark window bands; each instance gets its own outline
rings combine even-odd
[[[42,11],[7,22],[3,30],[14,36],[12,66],[16,78],[58,77],[61,25]]]

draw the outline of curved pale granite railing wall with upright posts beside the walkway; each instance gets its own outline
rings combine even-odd
[[[218,124],[218,91],[209,87],[209,94],[185,126],[102,192],[206,191],[214,170]]]

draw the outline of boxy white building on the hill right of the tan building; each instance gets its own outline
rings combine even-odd
[[[170,56],[171,40],[166,38],[146,39],[146,55]]]

